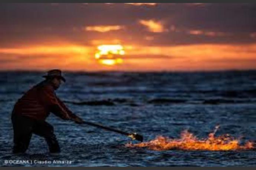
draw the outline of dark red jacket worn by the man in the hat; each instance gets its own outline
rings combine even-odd
[[[46,81],[27,91],[13,108],[14,115],[23,115],[37,120],[45,120],[50,112],[64,120],[67,120],[68,116],[76,117],[55,95],[53,86]]]

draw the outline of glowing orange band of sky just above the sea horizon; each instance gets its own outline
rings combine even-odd
[[[97,46],[63,44],[0,48],[1,70],[69,71],[213,71],[255,69],[256,44],[198,44],[165,46],[124,45],[122,63],[104,65],[95,59]],[[8,62],[12,61],[12,62]]]

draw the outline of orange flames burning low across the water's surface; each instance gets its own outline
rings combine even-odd
[[[239,139],[235,139],[229,134],[215,136],[219,126],[215,127],[214,132],[209,133],[206,139],[198,139],[193,133],[184,130],[181,132],[179,139],[158,136],[149,142],[138,144],[127,144],[127,147],[147,147],[151,150],[249,150],[254,149],[253,142],[246,142],[244,145],[239,144]]]

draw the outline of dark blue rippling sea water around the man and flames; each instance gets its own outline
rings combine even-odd
[[[129,137],[51,114],[62,152],[50,154],[45,140],[33,135],[26,154],[12,154],[10,120],[14,103],[43,72],[0,72],[1,166],[255,166],[256,150],[204,151],[127,147]],[[64,72],[56,91],[84,120],[150,141],[178,138],[188,129],[198,138],[230,134],[240,142],[256,140],[256,71],[222,72]],[[30,162],[22,162],[22,160]],[[60,162],[53,162],[53,161]],[[15,162],[16,161],[16,162]],[[40,162],[41,161],[41,162]],[[47,161],[48,163],[43,163]],[[69,162],[70,161],[70,162]]]

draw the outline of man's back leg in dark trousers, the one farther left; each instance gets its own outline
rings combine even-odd
[[[25,153],[32,136],[33,120],[24,116],[12,116],[13,153]]]

